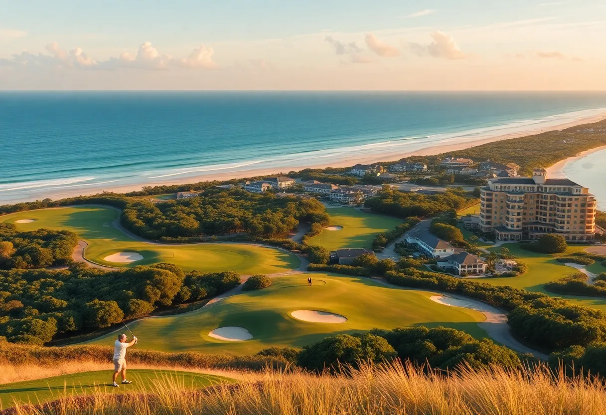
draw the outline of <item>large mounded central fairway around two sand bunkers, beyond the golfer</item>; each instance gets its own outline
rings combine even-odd
[[[307,285],[307,277],[313,285]],[[299,274],[272,278],[258,291],[244,291],[196,311],[152,317],[128,324],[139,339],[136,347],[158,351],[197,351],[207,354],[253,354],[270,346],[302,346],[327,336],[393,329],[408,325],[450,326],[475,337],[486,333],[477,322],[477,311],[453,308],[429,299],[428,291],[391,288],[370,278],[328,274]],[[311,323],[297,320],[297,310],[332,312],[347,318],[344,323]],[[243,327],[253,338],[241,342],[213,339],[213,329]],[[116,333],[87,343],[112,345]]]

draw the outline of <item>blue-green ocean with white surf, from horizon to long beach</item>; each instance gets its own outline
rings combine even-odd
[[[4,92],[0,202],[392,160],[605,108],[605,93]]]

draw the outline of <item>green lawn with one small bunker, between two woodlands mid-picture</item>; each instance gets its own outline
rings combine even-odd
[[[310,245],[324,246],[334,251],[341,248],[367,248],[376,234],[390,231],[402,223],[397,218],[361,212],[355,208],[326,209],[331,225],[342,226],[340,231],[324,231],[310,239]]]

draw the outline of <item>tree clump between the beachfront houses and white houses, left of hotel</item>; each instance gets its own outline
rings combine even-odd
[[[364,206],[374,212],[401,218],[428,217],[447,211],[459,211],[478,203],[464,191],[453,189],[438,195],[422,195],[414,192],[399,192],[384,186],[376,197],[365,201]]]

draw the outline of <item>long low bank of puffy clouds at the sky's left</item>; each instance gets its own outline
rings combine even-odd
[[[193,50],[185,58],[174,58],[170,55],[162,55],[151,46],[151,42],[143,42],[135,54],[122,53],[120,56],[109,58],[105,61],[96,61],[76,47],[70,51],[61,49],[57,42],[50,43],[45,48],[47,54],[35,55],[22,52],[13,55],[10,59],[0,59],[0,66],[24,66],[24,67],[54,67],[96,70],[118,70],[118,69],[140,69],[140,70],[167,70],[171,67],[187,68],[211,68],[215,67],[213,62],[213,48],[204,45]]]

